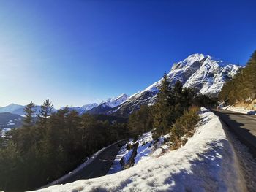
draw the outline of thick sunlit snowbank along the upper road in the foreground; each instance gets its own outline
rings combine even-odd
[[[40,191],[244,191],[233,147],[216,115],[203,109],[200,126],[178,150],[129,169]]]

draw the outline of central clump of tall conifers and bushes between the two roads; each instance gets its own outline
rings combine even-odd
[[[216,104],[216,98],[201,95],[195,88],[183,88],[179,81],[171,86],[167,74],[164,74],[155,103],[151,106],[144,105],[140,107],[140,110],[129,115],[128,128],[133,137],[153,130],[154,140],[171,132],[172,137],[177,136],[173,144],[180,146],[177,144],[177,138],[191,131],[190,126],[195,127],[195,122],[199,120],[198,107]],[[181,126],[181,121],[187,124]]]

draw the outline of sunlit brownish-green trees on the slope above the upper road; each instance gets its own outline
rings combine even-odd
[[[219,100],[227,104],[256,99],[256,51],[244,68],[227,81],[219,93]]]

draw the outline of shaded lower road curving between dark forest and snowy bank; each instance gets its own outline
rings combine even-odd
[[[75,180],[86,180],[95,177],[101,177],[107,174],[121,146],[125,145],[126,143],[127,140],[116,142],[114,145],[107,147],[105,150],[99,153],[99,155],[97,155],[97,157],[94,158],[90,164],[83,167],[83,169],[80,169],[78,172],[74,172],[70,175],[67,174],[64,177],[61,177],[61,179],[56,180],[53,183],[49,183],[42,188],[47,188],[56,184],[71,183]]]

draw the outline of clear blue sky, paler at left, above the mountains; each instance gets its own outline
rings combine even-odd
[[[0,1],[0,106],[80,106],[143,90],[205,53],[245,64],[256,1]]]

